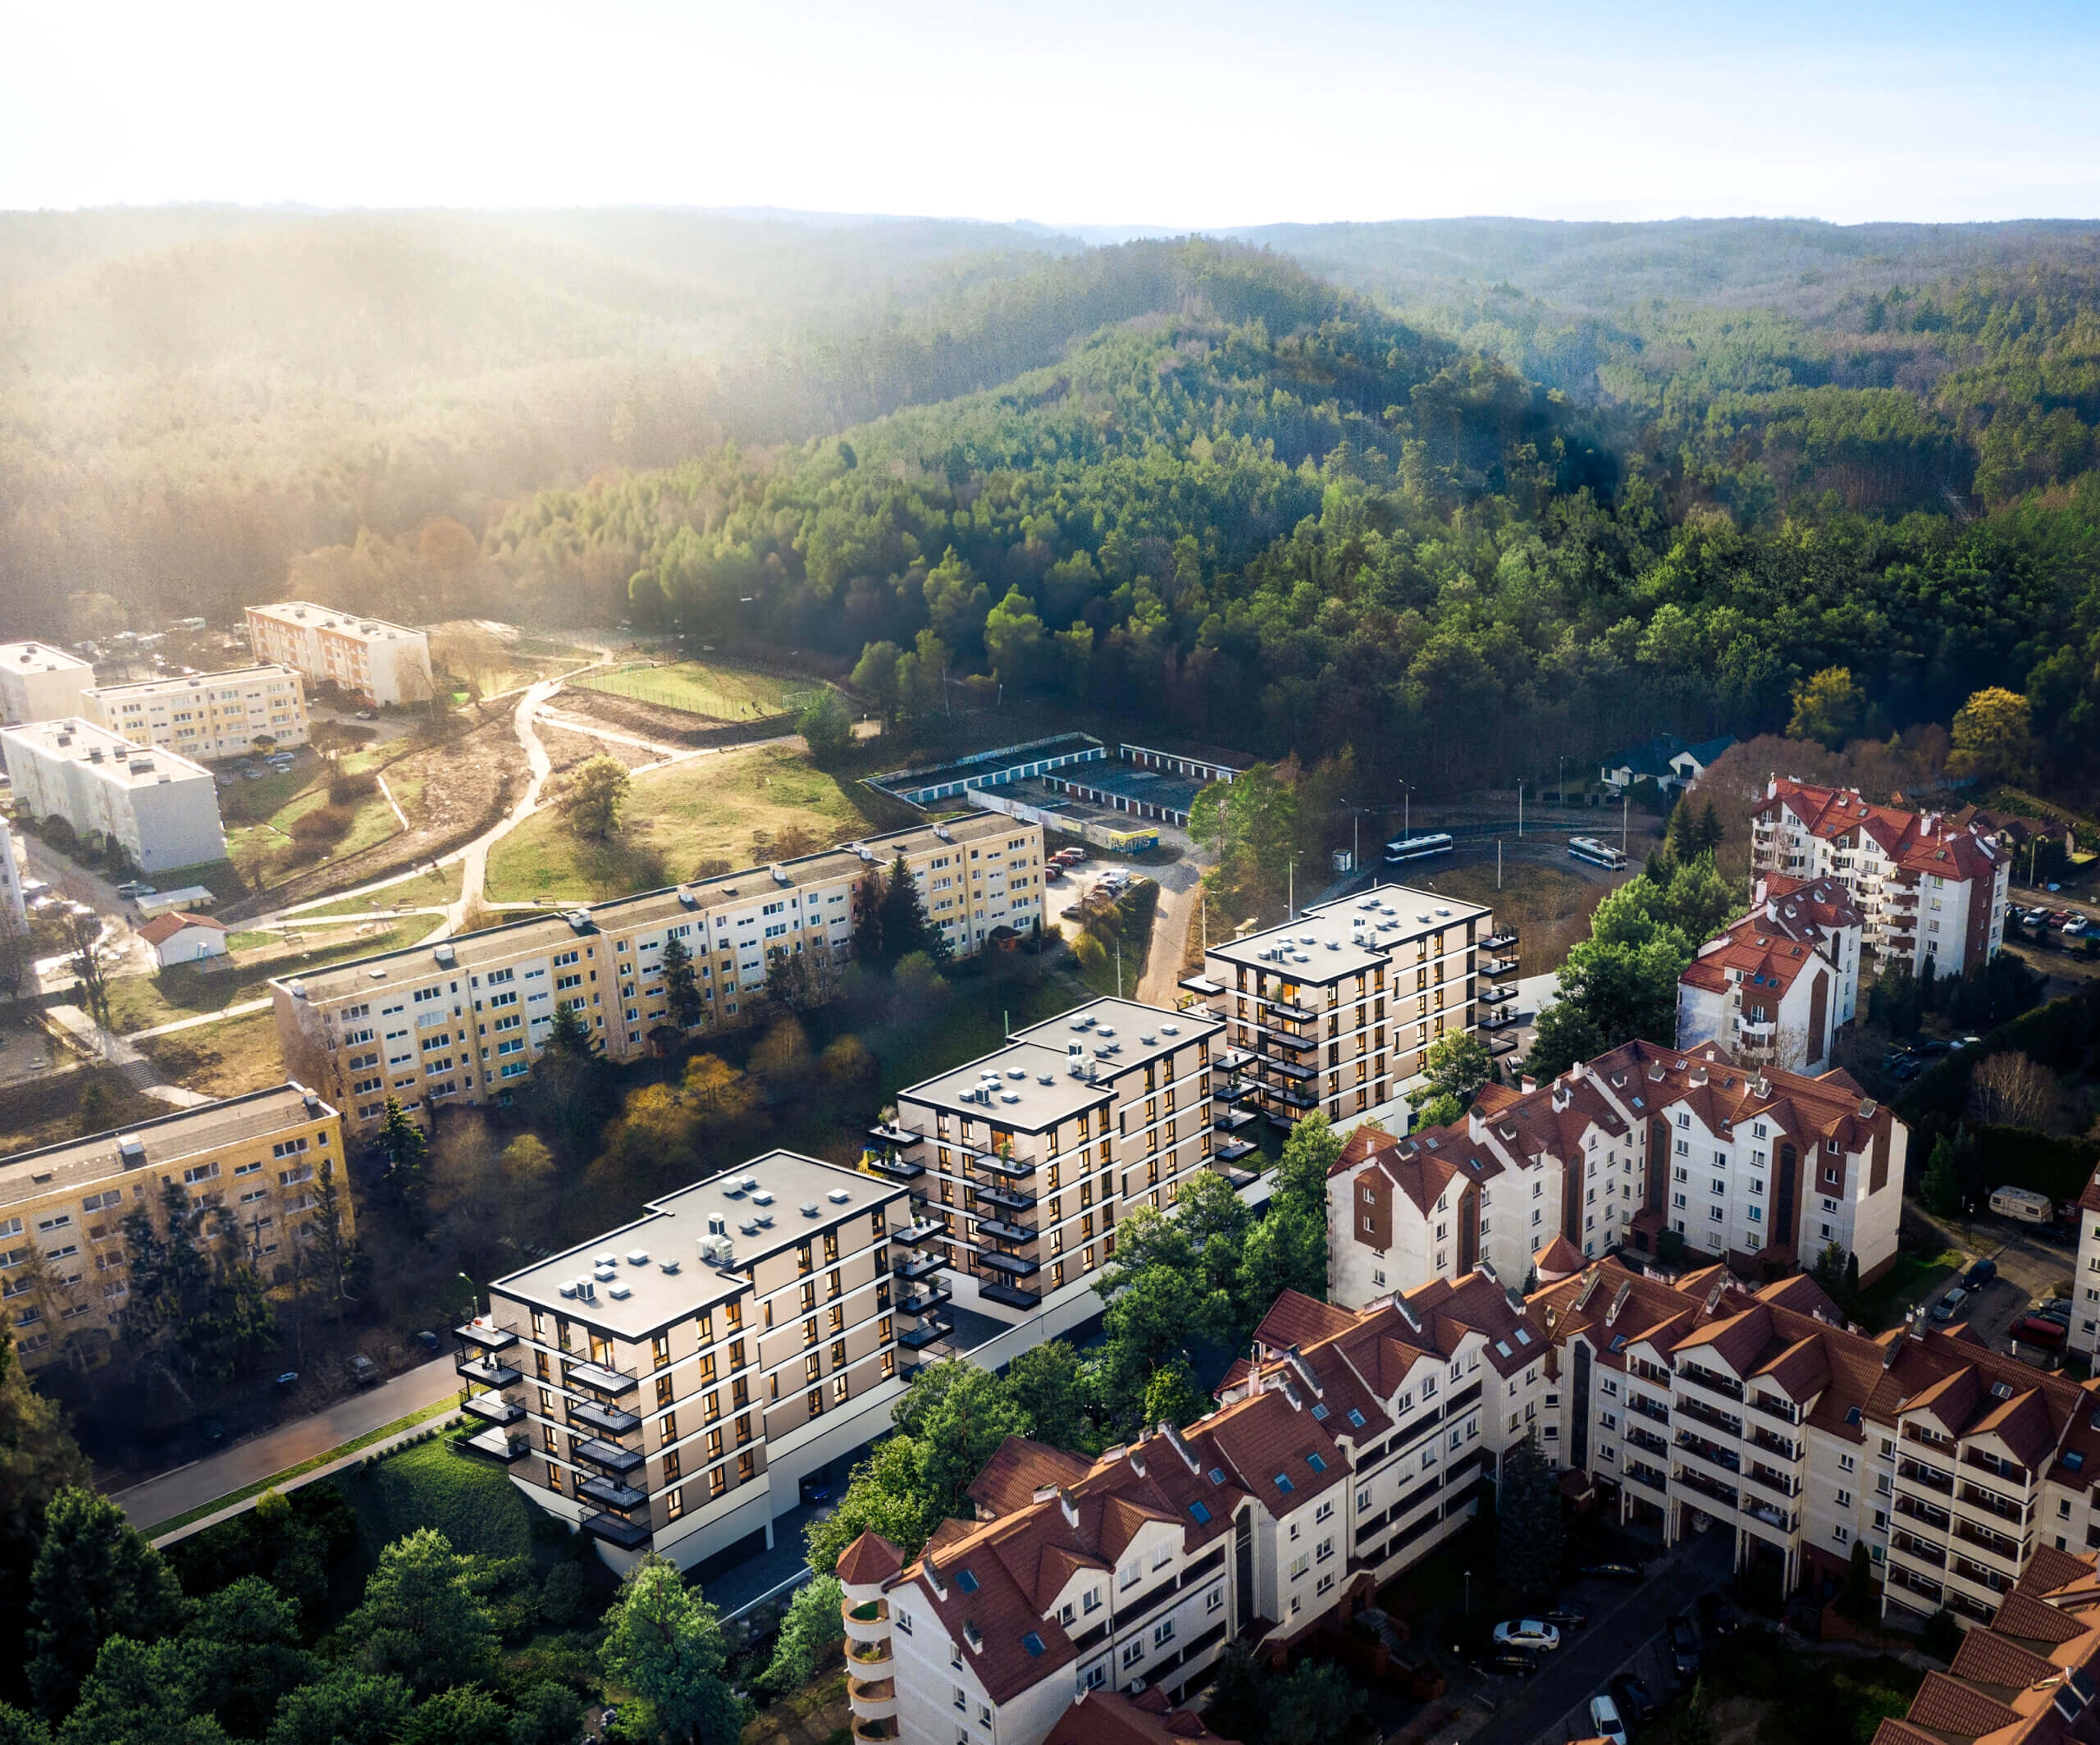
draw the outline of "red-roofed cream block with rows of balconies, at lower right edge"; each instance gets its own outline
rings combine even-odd
[[[1919,1317],[1850,1331],[1806,1277],[1724,1268],[1670,1285],[1619,1264],[1531,1298],[1556,1348],[1544,1445],[1621,1518],[1697,1516],[1787,1590],[1865,1541],[1884,1613],[1987,1621],[2045,1554],[2100,1543],[2100,1384],[2035,1371]]]

